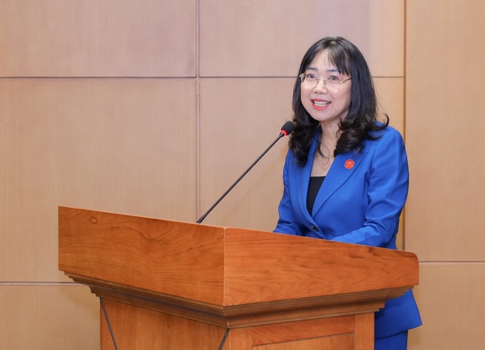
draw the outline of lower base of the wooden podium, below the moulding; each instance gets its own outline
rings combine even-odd
[[[155,312],[105,299],[113,334],[120,349],[218,349],[225,327],[216,327],[176,315]],[[373,349],[373,332],[364,337],[362,321],[374,322],[373,313],[320,318],[254,327],[231,328],[223,349]],[[355,341],[357,336],[361,341]],[[101,349],[114,349],[101,313]]]

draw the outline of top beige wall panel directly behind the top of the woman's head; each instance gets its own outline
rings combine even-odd
[[[200,0],[200,76],[294,76],[312,43],[344,36],[376,76],[402,76],[404,0]]]

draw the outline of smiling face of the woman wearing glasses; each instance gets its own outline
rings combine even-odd
[[[347,116],[351,101],[352,80],[335,83],[350,78],[340,74],[335,65],[327,59],[327,50],[320,51],[308,65],[308,78],[301,83],[301,99],[305,110],[320,124],[338,124]],[[311,83],[311,78],[317,78]],[[322,79],[334,80],[324,85]]]

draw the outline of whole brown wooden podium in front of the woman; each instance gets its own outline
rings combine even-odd
[[[418,284],[412,253],[65,207],[59,270],[120,350],[373,349],[374,312]]]

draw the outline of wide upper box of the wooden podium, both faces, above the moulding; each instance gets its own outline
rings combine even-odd
[[[413,253],[78,208],[58,253],[70,277],[223,307],[418,284]]]

